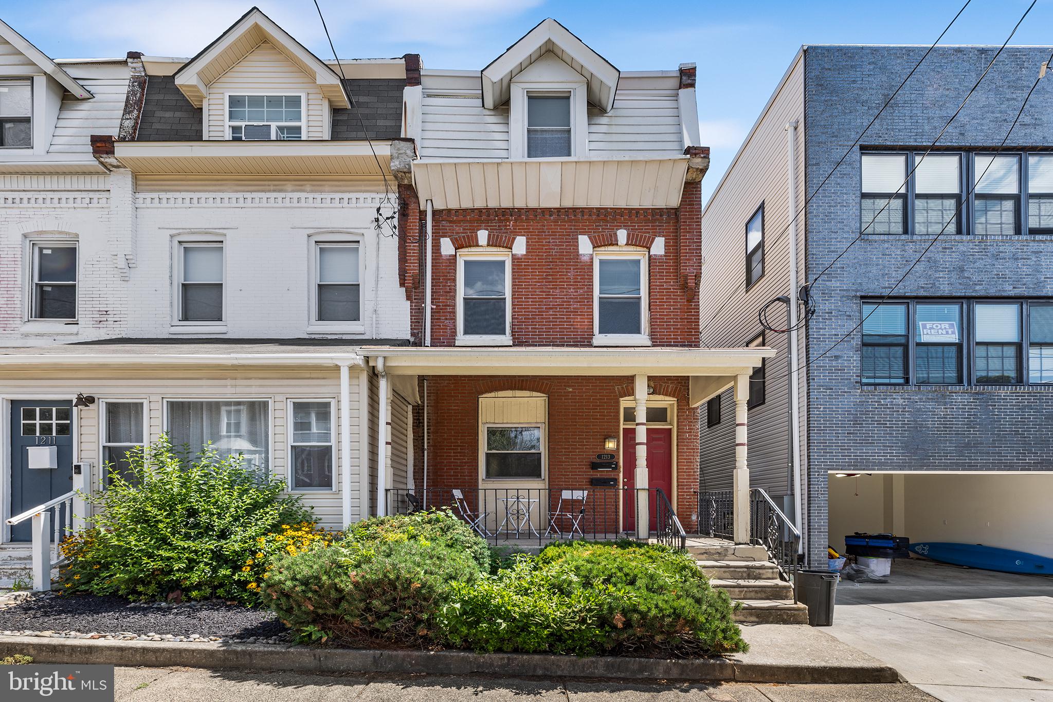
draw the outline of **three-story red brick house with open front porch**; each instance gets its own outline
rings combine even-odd
[[[495,538],[693,531],[698,407],[741,390],[748,486],[746,383],[771,355],[699,347],[694,64],[619,72],[549,19],[481,71],[408,82],[412,345],[362,354],[382,438],[389,377],[419,404],[409,484],[381,450],[377,510],[450,504]]]

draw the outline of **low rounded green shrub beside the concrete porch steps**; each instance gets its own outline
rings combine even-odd
[[[438,619],[453,645],[491,651],[708,656],[746,650],[728,595],[690,556],[632,542],[552,545],[476,583]]]

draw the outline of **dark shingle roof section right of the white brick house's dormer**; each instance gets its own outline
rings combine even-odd
[[[402,135],[404,79],[349,78],[343,84],[355,106],[333,111],[333,139],[397,139]]]

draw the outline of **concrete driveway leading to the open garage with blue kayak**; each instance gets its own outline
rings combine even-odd
[[[897,560],[841,581],[826,631],[945,702],[1053,702],[1053,577]]]

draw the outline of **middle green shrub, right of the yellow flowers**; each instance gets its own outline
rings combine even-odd
[[[485,542],[449,510],[372,518],[338,544],[276,559],[262,593],[301,640],[423,645],[451,586],[489,563]]]

